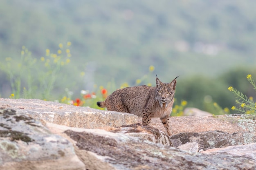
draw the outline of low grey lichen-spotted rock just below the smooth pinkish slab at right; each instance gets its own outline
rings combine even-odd
[[[199,150],[208,150],[253,143],[256,142],[256,136],[254,132],[235,132],[232,134],[221,131],[187,132],[171,136],[170,141],[175,147],[197,142],[199,144]]]

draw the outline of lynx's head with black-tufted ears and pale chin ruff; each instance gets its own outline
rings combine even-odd
[[[156,78],[157,85],[155,98],[158,100],[162,108],[164,103],[165,107],[167,107],[168,104],[173,101],[176,86],[176,78],[173,79],[171,83],[162,83],[158,78]]]

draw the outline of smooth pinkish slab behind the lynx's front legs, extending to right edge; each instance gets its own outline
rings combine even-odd
[[[141,118],[138,119],[141,123]],[[150,126],[163,132],[165,128],[159,118],[153,118]],[[227,133],[250,132],[256,136],[256,115],[218,115],[171,117],[173,135],[186,132],[207,132],[219,130]],[[249,135],[249,134],[248,134]]]

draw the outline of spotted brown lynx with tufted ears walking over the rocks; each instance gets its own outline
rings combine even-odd
[[[179,77],[179,76],[178,76]],[[134,86],[114,91],[105,101],[97,102],[101,108],[131,113],[142,117],[142,124],[149,125],[153,117],[160,117],[168,135],[171,135],[171,114],[176,79],[171,83],[162,83],[156,77],[156,87]]]

